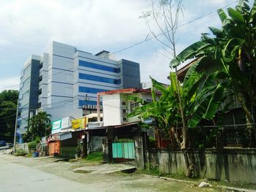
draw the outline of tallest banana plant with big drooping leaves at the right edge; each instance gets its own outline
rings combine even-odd
[[[228,16],[219,9],[222,28],[210,27],[213,38],[203,34],[201,41],[195,42],[178,54],[170,62],[170,66],[178,66],[189,58],[209,58],[211,61],[202,65],[211,66],[211,69],[218,69],[220,73],[225,74],[227,90],[236,95],[247,121],[255,123],[256,1],[252,8],[247,3],[248,1],[241,0],[236,9],[228,8]],[[255,137],[252,127],[251,132],[252,137]]]

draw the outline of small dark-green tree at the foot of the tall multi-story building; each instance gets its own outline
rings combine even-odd
[[[43,137],[50,134],[50,117],[47,112],[38,112],[29,119],[29,128],[24,134],[25,142],[33,141],[36,137]]]

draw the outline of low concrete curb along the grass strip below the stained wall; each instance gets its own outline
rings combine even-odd
[[[181,183],[190,183],[190,184],[197,184],[198,182],[196,181],[191,181],[191,180],[178,180],[178,179],[173,179],[170,177],[160,177],[160,176],[154,176],[154,175],[150,175],[150,174],[142,174],[145,177],[152,177],[152,178],[157,178],[157,179],[161,179],[161,180],[171,180],[171,181],[176,181],[176,182],[181,182]],[[222,188],[222,189],[227,189],[230,191],[238,191],[238,192],[255,192],[255,190],[253,189],[246,189],[246,188],[234,188],[234,187],[229,187],[229,186],[225,186],[225,185],[217,185],[217,188]]]

